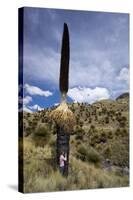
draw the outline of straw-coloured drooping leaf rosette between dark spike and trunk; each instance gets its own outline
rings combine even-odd
[[[76,119],[73,112],[68,108],[66,102],[62,102],[55,110],[50,113],[52,118],[58,126],[64,129],[66,133],[71,133]]]

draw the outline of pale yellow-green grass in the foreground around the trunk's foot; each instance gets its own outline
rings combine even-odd
[[[94,164],[83,162],[70,156],[69,175],[62,177],[54,169],[52,157],[48,153],[50,146],[36,147],[32,140],[24,141],[24,191],[48,192],[79,190],[91,188],[128,186],[128,176],[108,172]]]

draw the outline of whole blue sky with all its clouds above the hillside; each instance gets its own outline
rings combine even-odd
[[[24,109],[60,102],[63,24],[70,33],[69,102],[114,99],[129,90],[129,15],[44,8],[24,9]]]

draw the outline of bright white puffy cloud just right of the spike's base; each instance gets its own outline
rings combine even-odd
[[[74,102],[93,103],[98,100],[108,99],[110,97],[110,94],[106,88],[96,87],[94,89],[91,89],[87,87],[75,87],[69,89],[68,96]]]

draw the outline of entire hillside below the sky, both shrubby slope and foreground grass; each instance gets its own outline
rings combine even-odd
[[[69,104],[77,124],[70,139],[69,176],[55,166],[53,108],[24,113],[24,190],[57,191],[128,186],[129,98]],[[20,143],[22,138],[20,138]],[[21,158],[22,159],[22,158]]]

